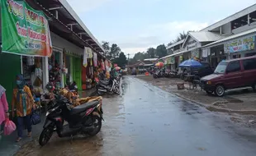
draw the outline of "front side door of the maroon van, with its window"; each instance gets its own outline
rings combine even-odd
[[[225,71],[225,88],[234,89],[244,86],[243,72],[239,61],[230,62]]]

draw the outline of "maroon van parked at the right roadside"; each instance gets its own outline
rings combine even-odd
[[[202,77],[201,88],[207,94],[223,96],[226,89],[250,86],[256,91],[256,56],[222,61],[210,76]]]

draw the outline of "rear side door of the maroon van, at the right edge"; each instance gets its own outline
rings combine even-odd
[[[244,83],[251,86],[256,82],[256,58],[250,58],[242,61],[244,67]]]

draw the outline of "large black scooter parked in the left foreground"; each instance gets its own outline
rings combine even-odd
[[[68,99],[59,95],[56,102],[46,112],[43,131],[40,133],[39,144],[46,145],[54,132],[60,138],[73,135],[97,135],[102,128],[102,100],[83,103],[72,108]],[[64,125],[64,121],[68,122]]]

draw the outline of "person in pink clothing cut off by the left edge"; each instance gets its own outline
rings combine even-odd
[[[7,97],[5,94],[6,89],[0,85],[0,135],[3,131],[4,121],[7,117],[9,117],[8,113],[8,103],[7,103]]]

